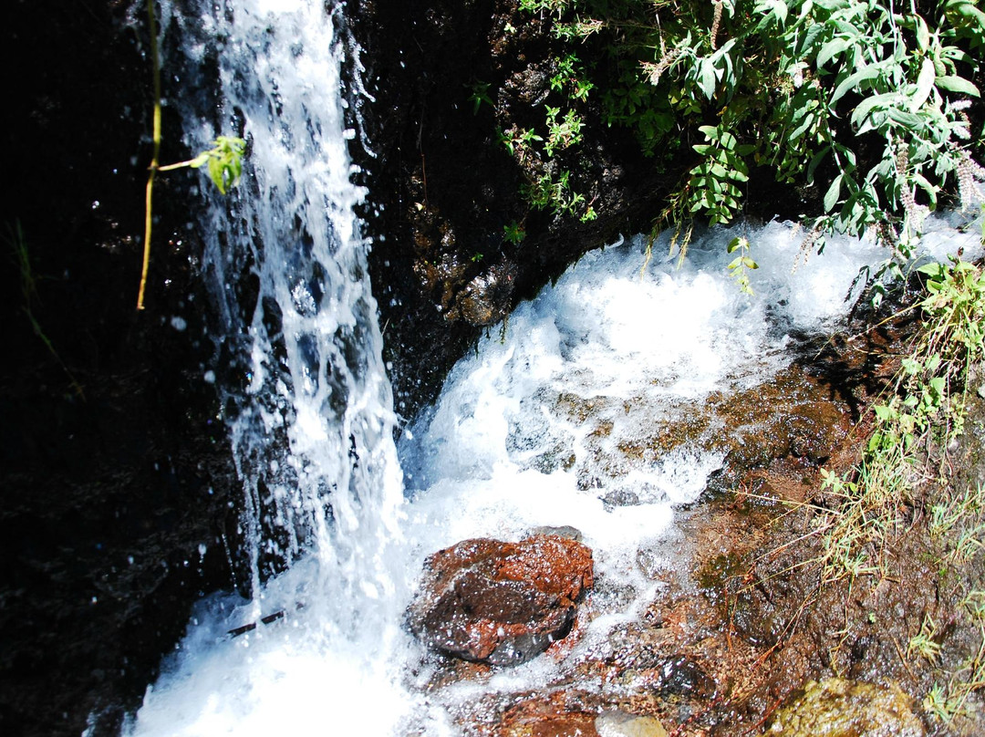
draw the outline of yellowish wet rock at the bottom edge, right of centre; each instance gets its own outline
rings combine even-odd
[[[804,694],[773,718],[768,734],[785,737],[918,737],[925,734],[896,684],[829,678],[812,681]]]

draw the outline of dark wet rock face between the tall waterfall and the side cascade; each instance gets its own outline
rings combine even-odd
[[[363,158],[374,291],[386,324],[397,411],[431,401],[451,365],[516,302],[591,248],[649,229],[674,174],[639,155],[628,131],[586,111],[584,142],[558,155],[598,219],[532,211],[531,171],[498,131],[543,125],[562,55],[548,24],[515,0],[361,0],[350,10],[375,102]],[[488,85],[489,101],[471,98]],[[540,116],[540,117],[538,117]],[[359,152],[356,152],[359,156]],[[564,158],[567,157],[567,158]],[[557,175],[557,172],[555,172]],[[524,222],[511,242],[504,226]]]

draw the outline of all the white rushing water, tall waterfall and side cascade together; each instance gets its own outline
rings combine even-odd
[[[164,2],[186,57],[165,64],[204,90],[215,82],[193,70],[217,62],[217,97],[183,109],[191,148],[230,125],[250,145],[233,199],[205,206],[223,334],[203,380],[224,394],[254,595],[201,602],[126,732],[457,734],[480,690],[530,688],[566,664],[535,659],[426,696],[403,627],[425,557],[468,537],[578,528],[602,590],[619,594],[568,664],[602,646],[653,597],[654,570],[675,565],[675,507],[721,467],[725,429],[709,421],[666,452],[624,448],[783,369],[789,336],[830,327],[859,268],[885,253],[835,239],[794,273],[802,234],[767,225],[747,233],[764,265],[752,298],[725,270],[732,234],[702,237],[680,269],[656,257],[641,273],[638,239],[590,253],[453,369],[398,452],[353,210],[365,193],[347,153],[343,19],[307,0],[200,5]],[[937,228],[932,241],[953,233]],[[282,572],[262,582],[269,570]]]

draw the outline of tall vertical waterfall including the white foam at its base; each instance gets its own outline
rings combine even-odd
[[[339,3],[163,0],[161,13],[165,101],[188,147],[248,146],[229,197],[203,183],[197,227],[216,315],[203,380],[243,485],[252,597],[201,604],[129,729],[267,735],[286,709],[316,718],[317,705],[338,733],[385,734],[402,709],[390,663],[405,584],[387,558],[403,494],[348,152],[342,70],[358,76],[358,49]]]

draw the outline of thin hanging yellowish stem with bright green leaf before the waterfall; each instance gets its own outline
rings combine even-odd
[[[147,186],[144,195],[144,258],[140,270],[140,287],[137,291],[137,309],[144,308],[147,289],[147,273],[151,263],[151,234],[154,224],[154,180],[158,171],[175,168],[199,168],[208,165],[209,178],[222,194],[235,186],[242,174],[242,158],[246,142],[241,138],[219,136],[213,148],[203,151],[194,159],[161,166],[161,55],[158,48],[158,23],[154,12],[154,0],[147,0],[148,29],[151,35],[151,60],[154,70],[154,112],[151,164],[148,167]]]

